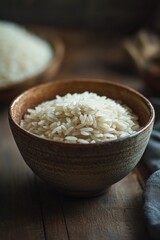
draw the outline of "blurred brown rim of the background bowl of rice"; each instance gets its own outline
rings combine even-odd
[[[24,87],[27,84],[31,84],[32,82],[34,82],[34,80],[40,79],[43,76],[45,76],[45,74],[47,74],[48,71],[50,71],[50,69],[53,68],[53,66],[54,66],[54,71],[56,73],[56,70],[59,69],[63,61],[64,54],[65,54],[65,46],[64,46],[63,40],[55,31],[53,31],[52,33],[49,33],[47,30],[45,31],[44,29],[44,33],[43,33],[43,29],[41,31],[40,30],[36,31],[36,29],[34,30],[34,28],[32,29],[28,28],[27,30],[30,31],[31,34],[35,35],[36,37],[39,37],[40,39],[42,39],[43,41],[45,41],[51,46],[52,53],[53,53],[52,59],[49,61],[49,63],[41,72],[34,74],[31,77],[26,77],[22,81],[17,81],[14,83],[11,82],[5,85],[0,85],[0,92],[18,89],[18,88]]]

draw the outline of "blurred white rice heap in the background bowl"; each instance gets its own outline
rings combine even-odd
[[[17,24],[0,21],[0,86],[41,73],[52,57],[45,40]]]

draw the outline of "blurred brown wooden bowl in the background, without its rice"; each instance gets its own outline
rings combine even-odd
[[[61,66],[65,52],[61,38],[55,33],[49,34],[49,31],[32,31],[50,43],[54,51],[53,59],[43,72],[33,77],[26,78],[21,82],[8,83],[4,86],[0,86],[0,103],[11,101],[15,96],[34,85],[53,80]]]

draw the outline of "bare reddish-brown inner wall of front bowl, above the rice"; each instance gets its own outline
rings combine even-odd
[[[118,83],[105,80],[65,80],[54,81],[33,87],[22,93],[11,105],[11,117],[19,124],[28,108],[54,99],[56,95],[67,93],[95,92],[115,100],[121,100],[138,116],[142,127],[146,126],[154,117],[154,110],[150,102],[133,89]]]

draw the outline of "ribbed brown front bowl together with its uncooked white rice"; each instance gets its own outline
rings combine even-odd
[[[106,80],[64,80],[19,95],[10,127],[28,166],[56,190],[95,196],[131,172],[154,123],[151,103]]]

